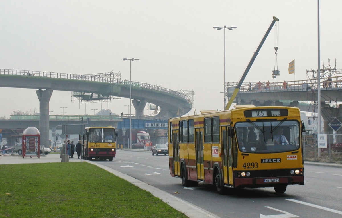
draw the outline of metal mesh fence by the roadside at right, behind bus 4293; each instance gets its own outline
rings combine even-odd
[[[303,135],[304,161],[342,163],[342,134],[327,135],[328,148],[318,148],[317,134]]]

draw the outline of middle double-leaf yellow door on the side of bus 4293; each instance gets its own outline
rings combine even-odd
[[[196,128],[196,169],[197,179],[204,180],[203,128]]]

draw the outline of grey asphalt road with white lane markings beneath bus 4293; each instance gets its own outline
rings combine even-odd
[[[211,185],[203,183],[195,189],[183,188],[181,179],[170,175],[168,158],[117,150],[113,162],[97,163],[168,193],[179,192],[174,195],[222,218],[342,218],[342,168],[305,165],[305,185],[289,185],[280,195],[273,188],[229,189],[228,194],[219,195]]]

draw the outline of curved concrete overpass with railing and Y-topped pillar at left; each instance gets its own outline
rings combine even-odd
[[[95,93],[103,96],[129,98],[130,81],[104,78],[102,74],[69,74],[28,70],[0,69],[0,87],[36,89],[39,99],[39,130],[42,146],[49,139],[49,101],[53,90]],[[193,106],[193,98],[181,91],[132,81],[132,103],[136,117],[143,116],[146,103],[160,107],[158,117],[186,114]]]

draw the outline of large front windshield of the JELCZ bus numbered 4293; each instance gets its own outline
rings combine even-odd
[[[299,148],[298,121],[239,122],[235,132],[241,152],[278,153]]]

